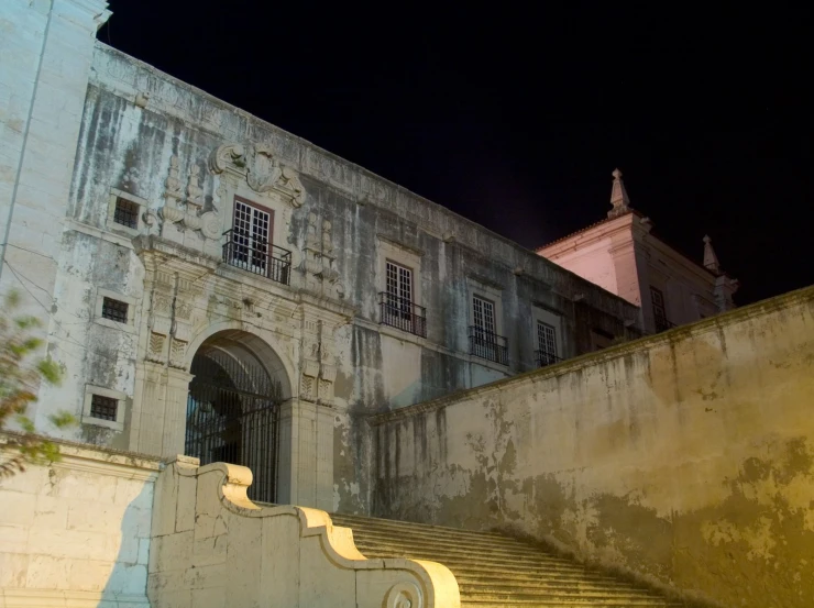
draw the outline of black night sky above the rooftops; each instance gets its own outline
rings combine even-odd
[[[738,303],[814,284],[807,14],[442,4],[112,0],[99,40],[525,246],[603,219],[618,166]]]

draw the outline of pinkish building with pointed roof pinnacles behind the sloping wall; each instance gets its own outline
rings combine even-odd
[[[722,270],[710,236],[703,264],[651,233],[653,222],[630,206],[614,172],[607,219],[537,250],[541,256],[641,307],[648,333],[732,309],[738,281]],[[610,343],[597,336],[597,345]]]

